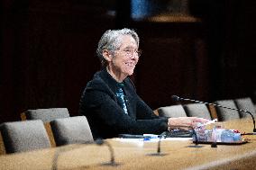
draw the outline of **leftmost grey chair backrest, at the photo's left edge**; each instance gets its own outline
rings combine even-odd
[[[50,148],[50,139],[41,120],[5,122],[1,132],[6,153]]]

